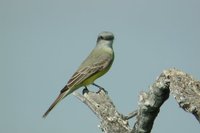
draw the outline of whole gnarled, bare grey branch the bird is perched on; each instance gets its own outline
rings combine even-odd
[[[160,107],[170,92],[185,111],[192,113],[200,122],[200,81],[177,69],[163,71],[150,86],[148,92],[139,94],[138,109],[129,115],[120,114],[107,92],[91,92],[84,89],[83,95],[73,93],[100,119],[100,128],[105,133],[150,133]],[[130,103],[130,102],[129,102]],[[131,106],[131,105],[130,105]],[[134,126],[128,120],[136,116]]]

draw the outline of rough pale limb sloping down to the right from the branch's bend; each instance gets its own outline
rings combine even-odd
[[[200,122],[200,81],[177,69],[163,72],[170,78],[170,91],[185,111],[192,113]]]

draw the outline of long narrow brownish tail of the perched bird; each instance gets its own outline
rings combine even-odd
[[[65,91],[62,91],[65,90]],[[49,112],[67,95],[69,95],[71,93],[70,89],[65,86],[63,89],[61,90],[60,94],[58,95],[58,97],[56,98],[56,100],[51,104],[51,106],[49,107],[49,109],[44,113],[44,115],[42,116],[43,118],[46,118],[47,115],[49,114]]]

